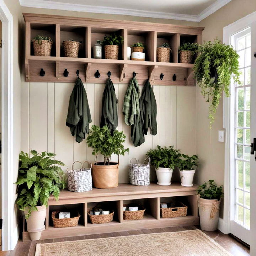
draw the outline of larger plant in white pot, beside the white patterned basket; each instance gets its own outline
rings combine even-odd
[[[180,151],[174,146],[161,148],[158,145],[157,149],[150,149],[146,155],[150,157],[151,165],[155,166],[158,185],[171,185],[172,171],[179,162]]]

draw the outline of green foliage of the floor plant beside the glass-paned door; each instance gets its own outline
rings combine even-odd
[[[208,183],[204,182],[203,185],[199,186],[197,193],[203,199],[220,199],[223,195],[222,186],[217,187],[214,180],[209,180]]]

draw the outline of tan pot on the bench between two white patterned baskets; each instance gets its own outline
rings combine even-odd
[[[97,162],[92,165],[92,182],[96,188],[114,188],[118,186],[119,164],[110,162],[110,165],[104,165],[104,162]]]

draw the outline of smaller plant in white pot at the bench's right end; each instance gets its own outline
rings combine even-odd
[[[192,187],[193,186],[193,177],[196,172],[195,167],[197,166],[198,156],[188,156],[182,154],[177,167],[180,168],[180,177],[181,177],[181,186]]]

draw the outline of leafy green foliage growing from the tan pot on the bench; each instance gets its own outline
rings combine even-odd
[[[100,153],[104,156],[104,165],[110,165],[111,155],[124,155],[129,149],[124,149],[126,135],[123,132],[114,130],[113,135],[107,125],[103,127],[93,125],[87,136],[87,145],[93,149],[92,154],[95,156]]]

